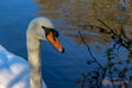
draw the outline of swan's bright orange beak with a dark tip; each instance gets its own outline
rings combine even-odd
[[[52,45],[57,48],[59,52],[64,53],[64,48],[61,45],[61,43],[58,42],[57,37],[55,37],[53,35],[53,32],[50,32],[46,36],[47,41],[50,41],[50,43],[52,43]]]

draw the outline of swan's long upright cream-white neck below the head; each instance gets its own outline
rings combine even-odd
[[[30,88],[42,88],[40,46],[40,40],[35,37],[32,31],[28,31],[26,47],[30,64]]]

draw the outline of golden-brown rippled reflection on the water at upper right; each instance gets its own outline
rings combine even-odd
[[[102,25],[98,19],[101,19],[106,22],[111,29],[120,33],[121,25],[127,32],[128,36],[132,34],[132,1],[127,0],[125,9],[122,9],[122,6],[119,3],[120,0],[35,0],[37,4],[41,4],[38,9],[41,12],[38,15],[45,15],[52,19],[61,19],[59,29],[62,31],[84,31],[84,25]],[[94,32],[89,32],[90,28],[86,28],[82,32],[84,37],[87,43],[92,43],[98,41],[102,44],[107,44],[110,41],[110,35],[98,34],[98,30],[94,29]],[[96,33],[96,34],[95,34]],[[65,33],[69,37],[74,37],[77,43],[81,44],[79,35]]]

